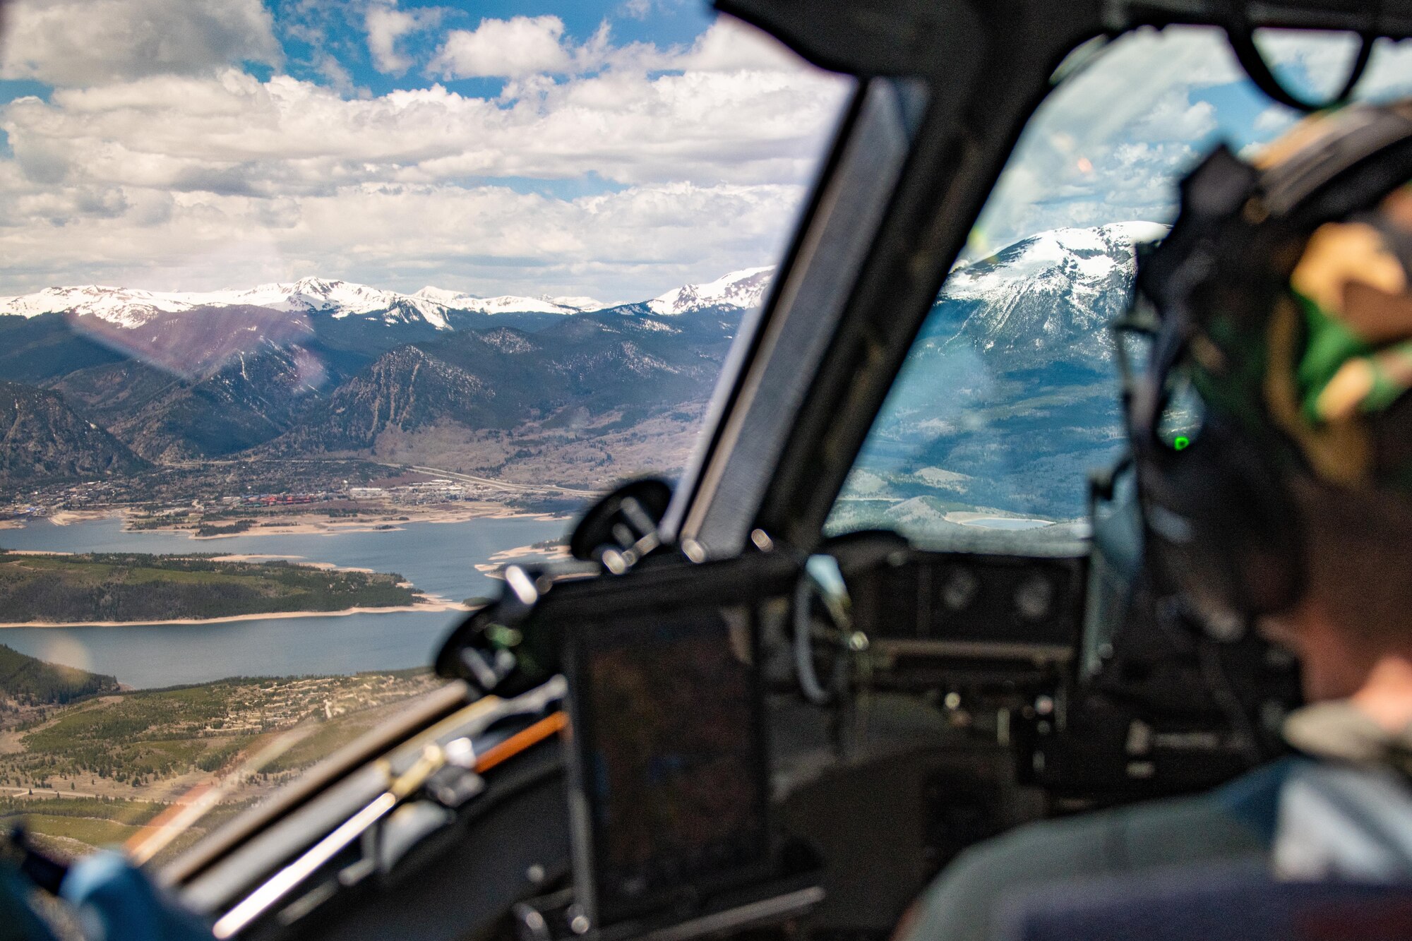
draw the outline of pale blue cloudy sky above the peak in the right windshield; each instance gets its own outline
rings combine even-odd
[[[1347,37],[1291,32],[1262,41],[1276,72],[1303,93],[1341,85]],[[1380,41],[1360,95],[1412,92],[1409,52],[1408,44]],[[1254,88],[1217,30],[1123,37],[1039,107],[970,253],[1060,226],[1171,222],[1178,181],[1217,143],[1250,154],[1298,117]]]

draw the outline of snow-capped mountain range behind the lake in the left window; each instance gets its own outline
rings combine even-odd
[[[603,486],[630,463],[681,466],[771,273],[611,307],[318,278],[199,294],[48,288],[0,298],[0,380],[110,434],[137,462],[114,459],[112,473],[361,456]],[[103,473],[78,461],[86,444],[69,444],[69,465],[42,465],[52,479]],[[0,486],[37,475],[0,470]]]

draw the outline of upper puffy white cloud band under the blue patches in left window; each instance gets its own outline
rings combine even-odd
[[[803,71],[609,71],[511,103],[441,86],[345,99],[275,76],[151,76],[0,110],[35,182],[251,195],[467,178],[801,182],[844,85]]]

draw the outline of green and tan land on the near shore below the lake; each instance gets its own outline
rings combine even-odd
[[[441,682],[409,670],[11,704],[6,715],[20,723],[0,728],[0,819],[76,856],[136,845],[193,788],[220,787],[210,812],[164,851],[172,858]],[[275,743],[263,767],[247,766]]]

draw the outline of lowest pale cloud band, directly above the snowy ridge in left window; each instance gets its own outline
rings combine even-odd
[[[261,198],[0,178],[0,285],[216,290],[308,274],[412,291],[645,300],[778,256],[803,188],[655,184],[555,199],[359,184]],[[44,277],[34,278],[35,271]]]

